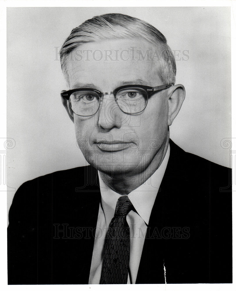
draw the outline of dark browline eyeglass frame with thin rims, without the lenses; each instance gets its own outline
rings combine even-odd
[[[79,91],[91,91],[91,92],[95,92],[99,96],[99,101],[100,101],[99,102],[99,107],[100,107],[101,97],[104,96],[104,95],[111,95],[111,94],[113,94],[115,96],[115,101],[116,101],[116,103],[117,103],[117,105],[119,107],[119,104],[118,104],[117,99],[116,99],[116,95],[117,95],[117,92],[119,92],[120,90],[123,90],[123,89],[126,89],[126,88],[142,88],[142,89],[144,89],[146,91],[147,97],[150,97],[153,93],[155,93],[157,91],[161,91],[161,90],[167,89],[167,88],[169,88],[171,86],[173,86],[173,85],[172,84],[166,84],[166,85],[160,85],[160,86],[156,86],[156,87],[149,87],[149,86],[145,86],[145,85],[125,85],[125,86],[121,86],[121,87],[116,88],[112,92],[101,92],[101,91],[98,91],[96,89],[91,89],[91,88],[78,88],[78,89],[72,89],[72,90],[68,90],[68,91],[62,91],[61,92],[61,97],[62,98],[65,98],[66,100],[69,100],[70,95],[72,93],[74,93],[74,92],[79,92]],[[148,98],[147,98],[147,102],[146,102],[146,105],[145,105],[144,109],[146,108],[147,104],[148,104]],[[96,114],[98,112],[98,110],[99,110],[99,107],[98,107],[98,109],[97,109],[97,111],[95,113],[93,113],[91,115],[86,115],[86,116],[92,116],[92,115]],[[126,114],[137,114],[137,113],[140,113],[140,112],[144,111],[144,109],[142,109],[139,112],[128,113],[128,112],[123,111],[120,107],[119,107],[119,109],[122,112],[126,113]],[[72,108],[71,108],[71,110],[73,111]],[[84,115],[79,115],[79,114],[76,114],[76,115],[78,115],[78,116],[84,116]]]

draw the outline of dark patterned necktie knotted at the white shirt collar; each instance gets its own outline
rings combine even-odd
[[[116,205],[106,234],[100,284],[127,284],[130,254],[130,229],[126,214],[132,203],[127,195],[121,196]]]

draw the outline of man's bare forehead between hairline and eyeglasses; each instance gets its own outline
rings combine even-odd
[[[91,84],[110,91],[124,83],[161,84],[157,48],[145,40],[86,43],[74,49],[65,64],[71,89]]]

